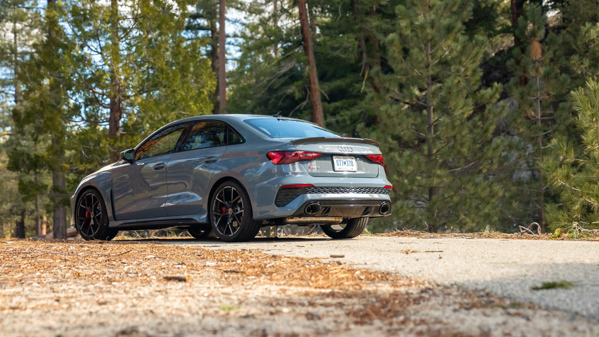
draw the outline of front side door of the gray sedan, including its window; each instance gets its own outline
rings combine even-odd
[[[134,163],[116,167],[113,200],[117,220],[167,216],[167,163],[188,125],[161,130],[137,147]]]

